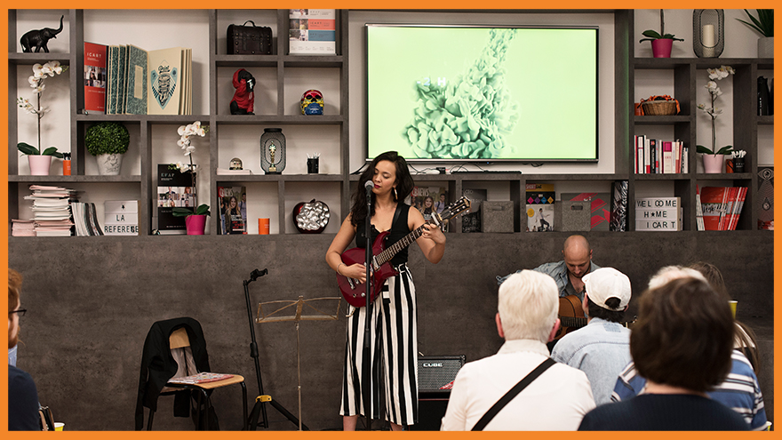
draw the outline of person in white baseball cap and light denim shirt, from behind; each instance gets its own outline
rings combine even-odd
[[[586,327],[564,335],[551,358],[586,372],[594,403],[608,404],[618,373],[631,361],[630,330],[621,324],[630,302],[630,279],[615,268],[599,268],[586,274],[584,283]]]

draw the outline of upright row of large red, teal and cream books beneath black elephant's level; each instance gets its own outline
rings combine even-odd
[[[84,108],[107,115],[193,113],[193,50],[84,42]],[[89,63],[89,64],[88,64]]]

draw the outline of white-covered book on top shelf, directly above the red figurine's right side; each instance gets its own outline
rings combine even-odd
[[[334,55],[337,48],[337,12],[334,9],[291,9],[288,13],[288,52]]]

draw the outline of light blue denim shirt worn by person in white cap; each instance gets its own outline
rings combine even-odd
[[[632,360],[630,330],[592,318],[586,327],[564,335],[551,351],[551,358],[585,372],[594,403],[608,404],[619,372]]]

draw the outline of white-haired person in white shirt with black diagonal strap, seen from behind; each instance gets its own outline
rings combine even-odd
[[[473,429],[492,405],[548,360],[546,342],[559,327],[557,308],[557,289],[551,276],[523,270],[499,286],[495,321],[505,343],[496,355],[459,370],[443,430]],[[550,368],[510,400],[484,430],[575,430],[593,408],[586,374],[551,362]]]

